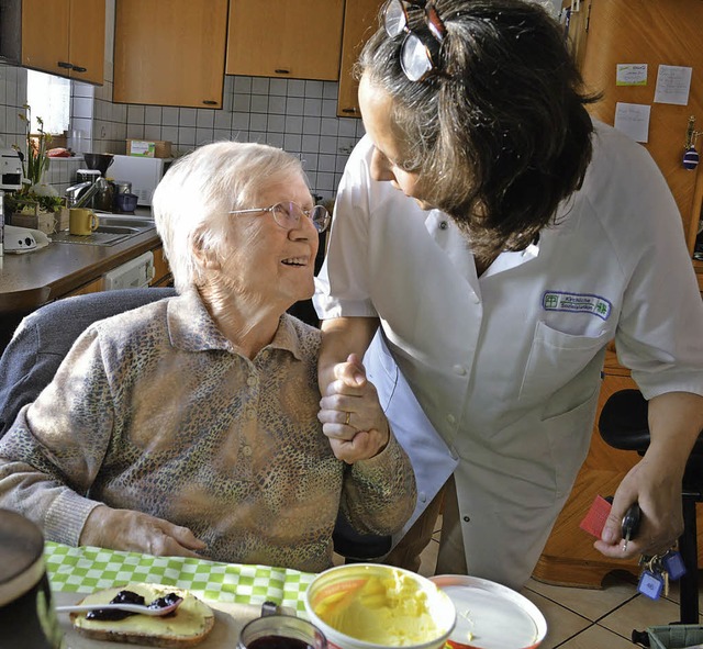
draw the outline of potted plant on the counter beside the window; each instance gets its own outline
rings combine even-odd
[[[26,154],[22,154],[20,146],[12,145],[22,157],[22,187],[14,193],[5,194],[5,213],[10,214],[12,225],[33,227],[46,234],[63,230],[63,222],[67,221],[65,201],[51,186],[42,182],[49,166],[47,155],[52,135],[44,131],[44,121],[37,118],[38,134],[33,136],[32,109],[24,104],[25,114],[20,119],[25,124]]]

